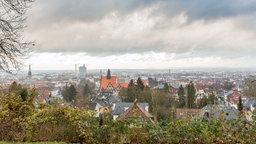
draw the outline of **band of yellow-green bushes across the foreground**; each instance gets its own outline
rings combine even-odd
[[[0,98],[0,141],[84,143],[254,143],[256,122],[244,120],[177,120],[155,125],[136,121],[103,123],[87,109],[33,103],[34,90],[26,98],[7,93]]]

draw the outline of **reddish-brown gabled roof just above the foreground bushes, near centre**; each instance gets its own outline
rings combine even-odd
[[[138,105],[136,102],[129,107],[123,114],[121,114],[117,119],[129,119],[129,118],[138,118],[140,120],[146,121],[151,120],[153,115],[151,115],[149,112],[147,112],[145,109],[143,109],[140,105]],[[151,122],[153,122],[151,120]]]

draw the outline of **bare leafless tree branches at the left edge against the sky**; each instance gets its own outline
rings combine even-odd
[[[0,69],[13,73],[31,51],[32,41],[22,36],[26,11],[33,0],[0,0]]]

